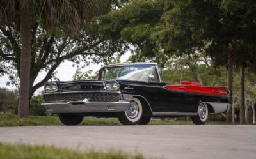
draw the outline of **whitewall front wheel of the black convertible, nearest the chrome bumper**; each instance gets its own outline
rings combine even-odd
[[[142,105],[138,98],[132,98],[129,110],[118,113],[118,120],[123,125],[137,125],[142,117]]]

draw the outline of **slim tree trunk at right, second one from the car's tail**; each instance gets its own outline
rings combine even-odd
[[[240,123],[245,123],[244,98],[244,63],[242,63],[240,66]]]

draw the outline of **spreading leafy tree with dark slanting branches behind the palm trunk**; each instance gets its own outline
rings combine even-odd
[[[30,96],[33,95],[36,89],[42,87],[44,82],[52,77],[55,78],[55,70],[64,60],[73,61],[76,64],[82,61],[86,64],[100,63],[101,61],[111,60],[114,51],[118,51],[120,54],[125,52],[122,43],[106,40],[100,35],[97,32],[96,25],[87,26],[75,35],[67,35],[61,32],[50,37],[40,26],[34,27],[34,29],[35,35],[31,42]],[[17,36],[15,36],[16,34]],[[15,59],[19,59],[19,56],[13,55],[14,50],[11,47],[12,43],[8,40],[9,38],[15,39],[15,42],[20,45],[19,33],[15,29],[0,27],[0,43],[4,48],[1,50],[10,58],[3,61],[3,63],[9,63],[4,70],[8,72],[12,84],[17,85],[19,84],[20,64]],[[38,73],[42,71],[47,72],[47,74],[44,79],[35,83]]]

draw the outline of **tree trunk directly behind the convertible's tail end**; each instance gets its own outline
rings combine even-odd
[[[228,51],[228,89],[230,91],[228,97],[228,103],[231,105],[231,108],[227,112],[227,123],[232,122],[232,100],[233,100],[233,56],[231,51]]]

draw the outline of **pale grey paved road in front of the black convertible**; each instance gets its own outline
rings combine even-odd
[[[122,149],[151,158],[256,158],[256,125],[22,126],[0,142]]]

